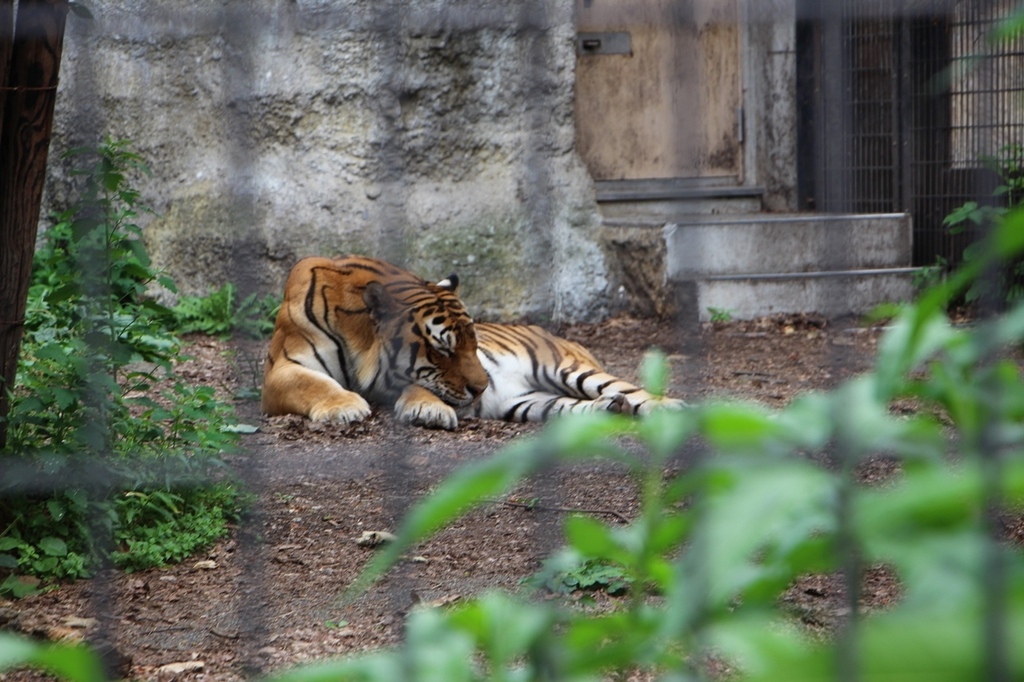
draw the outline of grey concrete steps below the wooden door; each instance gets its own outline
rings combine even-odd
[[[681,197],[603,184],[601,241],[622,307],[699,321],[840,316],[912,296],[908,214],[765,213],[757,187]]]

